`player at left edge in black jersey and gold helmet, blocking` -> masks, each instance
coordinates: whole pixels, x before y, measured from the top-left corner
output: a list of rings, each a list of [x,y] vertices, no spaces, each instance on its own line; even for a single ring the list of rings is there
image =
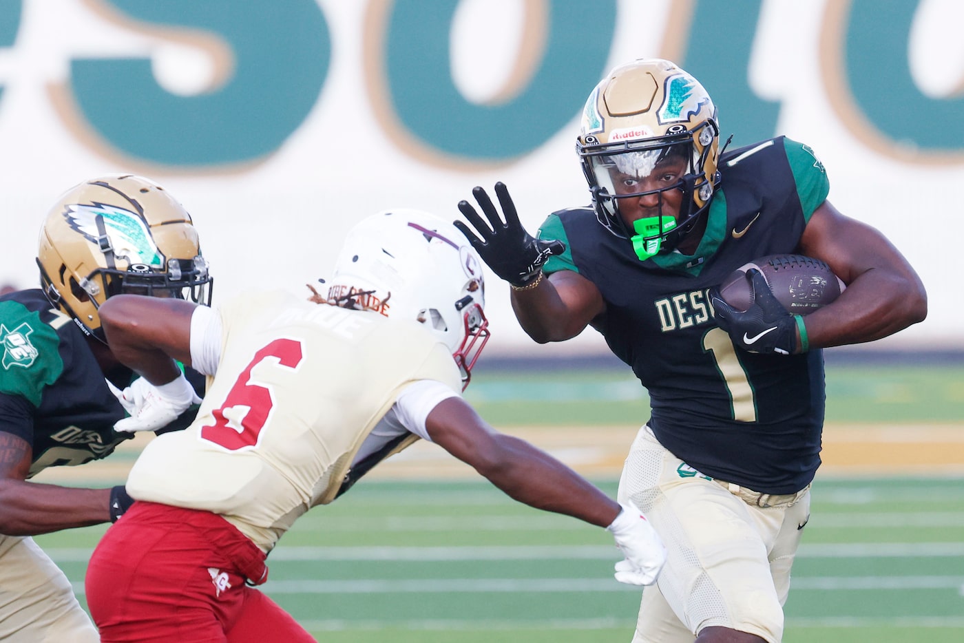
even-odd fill
[[[133,292],[210,303],[211,278],[191,216],[146,178],[109,175],[69,189],[40,230],[40,288],[0,296],[0,640],[99,641],[67,576],[30,536],[116,521],[122,486],[27,482],[47,467],[103,458],[149,394],[105,343],[97,308]],[[197,373],[193,373],[197,375]],[[181,394],[203,390],[178,378]],[[197,406],[171,420],[184,428]],[[161,427],[158,426],[158,429]]]

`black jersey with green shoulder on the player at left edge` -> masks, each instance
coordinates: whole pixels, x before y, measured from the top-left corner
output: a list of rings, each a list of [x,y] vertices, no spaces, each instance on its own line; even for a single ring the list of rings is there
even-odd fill
[[[133,437],[114,430],[126,414],[85,335],[70,317],[50,307],[42,291],[0,297],[0,342],[0,431],[33,447],[28,477],[47,467],[103,458]],[[121,368],[112,376],[123,388],[132,373]],[[190,379],[202,393],[200,376]],[[167,429],[186,427],[196,414],[197,407],[189,409]]]

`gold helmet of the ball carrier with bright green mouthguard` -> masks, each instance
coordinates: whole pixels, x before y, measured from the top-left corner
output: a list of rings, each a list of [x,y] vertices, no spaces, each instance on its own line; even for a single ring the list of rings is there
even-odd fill
[[[612,233],[628,237],[641,260],[676,248],[706,211],[719,182],[718,147],[710,94],[693,76],[661,59],[640,59],[610,71],[586,101],[576,143],[596,216]],[[672,185],[633,189],[674,158],[685,159],[686,169]],[[659,194],[661,201],[669,190],[683,192],[676,217],[660,209],[629,229],[620,216],[620,200]]]

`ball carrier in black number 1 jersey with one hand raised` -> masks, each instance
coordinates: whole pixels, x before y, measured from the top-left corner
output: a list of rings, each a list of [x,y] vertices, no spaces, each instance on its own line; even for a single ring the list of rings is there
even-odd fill
[[[876,229],[829,201],[810,147],[778,137],[726,151],[710,95],[664,60],[616,67],[590,94],[577,151],[592,205],[531,237],[504,185],[459,209],[540,343],[587,326],[648,389],[651,415],[620,497],[656,526],[667,563],[643,594],[636,642],[775,642],[809,518],[824,413],[821,348],[897,333],[926,315],[924,285]],[[473,233],[474,232],[474,233]],[[784,253],[846,283],[805,318],[761,294],[740,312],[713,287]],[[751,273],[759,271],[750,271]]]

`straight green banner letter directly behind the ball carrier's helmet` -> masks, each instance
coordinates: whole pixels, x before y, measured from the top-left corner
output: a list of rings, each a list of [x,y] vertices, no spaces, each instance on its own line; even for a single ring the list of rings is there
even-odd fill
[[[776,135],[780,103],[764,100],[747,79],[762,0],[695,0],[683,57],[716,105],[720,137],[748,145]]]

